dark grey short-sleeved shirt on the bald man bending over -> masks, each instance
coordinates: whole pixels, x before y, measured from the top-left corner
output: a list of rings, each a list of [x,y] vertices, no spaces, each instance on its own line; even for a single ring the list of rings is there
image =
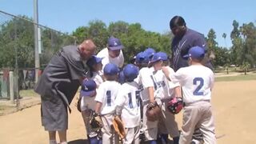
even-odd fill
[[[60,96],[69,105],[86,77],[87,66],[82,61],[78,46],[64,46],[51,58],[42,72],[34,91],[41,96]]]

